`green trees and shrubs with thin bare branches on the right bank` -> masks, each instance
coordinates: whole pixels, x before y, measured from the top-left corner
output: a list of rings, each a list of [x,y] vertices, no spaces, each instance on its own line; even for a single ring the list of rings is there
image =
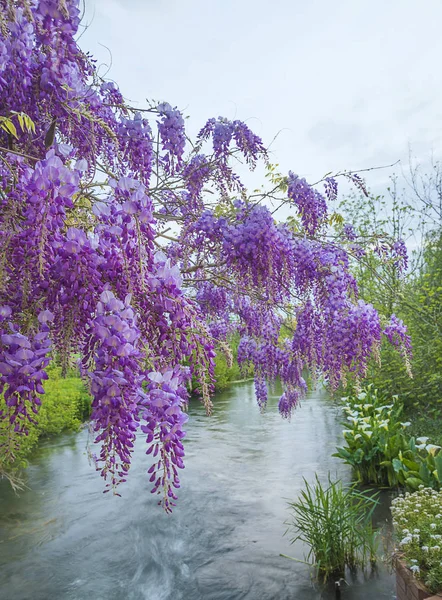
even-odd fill
[[[405,419],[412,421],[410,433],[428,435],[438,444],[442,444],[441,174],[436,163],[433,173],[423,175],[420,182],[412,171],[406,193],[398,192],[398,180],[393,179],[389,197],[350,197],[341,206],[360,239],[376,229],[409,239],[416,248],[405,278],[394,260],[381,260],[376,247],[354,261],[353,272],[366,301],[407,323],[413,347],[412,378],[398,353],[385,343],[380,360],[370,362],[367,378],[382,393],[401,398]]]

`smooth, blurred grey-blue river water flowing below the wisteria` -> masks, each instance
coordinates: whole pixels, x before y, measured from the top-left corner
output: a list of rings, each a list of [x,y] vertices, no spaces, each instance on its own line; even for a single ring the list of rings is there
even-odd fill
[[[139,440],[122,498],[103,494],[89,466],[87,432],[46,442],[15,496],[0,482],[1,600],[316,600],[334,599],[284,536],[286,503],[303,477],[349,480],[332,458],[341,443],[340,414],[312,392],[289,423],[276,394],[261,415],[253,384],[217,394],[214,414],[192,401],[186,468],[178,506],[166,515],[149,493],[150,463]],[[386,507],[376,519],[384,524]],[[393,599],[382,563],[347,577],[342,598]]]

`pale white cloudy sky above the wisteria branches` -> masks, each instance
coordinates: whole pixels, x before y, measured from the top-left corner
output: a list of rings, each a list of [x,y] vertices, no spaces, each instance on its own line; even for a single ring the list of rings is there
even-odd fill
[[[81,38],[134,104],[167,100],[196,132],[245,120],[282,170],[424,161],[442,151],[440,0],[85,0]],[[105,68],[102,68],[102,72]],[[398,170],[398,168],[396,168]],[[386,174],[368,182],[381,185]]]

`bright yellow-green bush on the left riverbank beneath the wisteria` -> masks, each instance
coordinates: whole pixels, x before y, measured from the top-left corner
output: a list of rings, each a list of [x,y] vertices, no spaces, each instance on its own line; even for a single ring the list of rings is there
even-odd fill
[[[20,436],[20,447],[18,448],[14,435],[7,436],[0,429],[0,445],[7,449],[2,453],[0,476],[8,474],[9,478],[13,477],[14,473],[26,467],[27,459],[42,438],[66,430],[76,431],[89,417],[91,399],[78,374],[71,371],[67,377],[62,377],[61,369],[55,367],[48,370],[48,376],[38,420],[29,424],[26,436]],[[1,396],[0,410],[8,410]]]

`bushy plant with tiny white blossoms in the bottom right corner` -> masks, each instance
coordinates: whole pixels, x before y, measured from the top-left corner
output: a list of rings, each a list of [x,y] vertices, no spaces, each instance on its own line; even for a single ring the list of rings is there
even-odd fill
[[[442,491],[406,492],[391,512],[398,558],[431,593],[442,591]]]

